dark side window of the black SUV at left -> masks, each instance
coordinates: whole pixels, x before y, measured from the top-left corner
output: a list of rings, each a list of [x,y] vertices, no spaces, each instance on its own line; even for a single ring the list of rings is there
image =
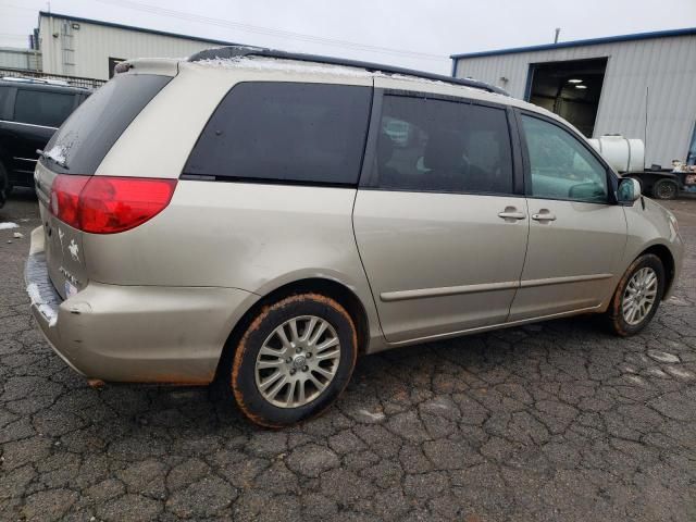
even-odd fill
[[[14,121],[60,127],[75,108],[75,95],[17,89]]]

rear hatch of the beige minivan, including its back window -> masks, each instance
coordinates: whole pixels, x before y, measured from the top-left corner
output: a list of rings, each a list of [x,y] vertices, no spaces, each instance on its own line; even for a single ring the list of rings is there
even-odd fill
[[[89,274],[83,249],[87,233],[80,231],[71,206],[119,137],[171,79],[160,74],[117,74],[65,121],[41,154],[34,176],[46,258],[63,299],[83,289]],[[64,190],[57,190],[61,187]]]

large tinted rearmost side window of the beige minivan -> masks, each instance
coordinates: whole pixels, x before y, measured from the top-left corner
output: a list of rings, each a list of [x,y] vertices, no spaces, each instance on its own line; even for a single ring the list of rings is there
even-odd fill
[[[356,185],[370,87],[250,82],[220,103],[184,174]]]

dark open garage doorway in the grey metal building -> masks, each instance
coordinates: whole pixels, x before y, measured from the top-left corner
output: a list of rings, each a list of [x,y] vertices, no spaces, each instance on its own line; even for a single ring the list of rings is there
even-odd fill
[[[533,63],[526,99],[564,117],[591,138],[606,69],[606,58]]]

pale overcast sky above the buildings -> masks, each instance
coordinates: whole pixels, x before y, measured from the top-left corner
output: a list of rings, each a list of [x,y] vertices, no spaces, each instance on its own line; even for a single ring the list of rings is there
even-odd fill
[[[696,0],[0,0],[0,46],[39,10],[449,73],[449,54],[696,26]],[[136,58],[136,57],[129,57]]]

